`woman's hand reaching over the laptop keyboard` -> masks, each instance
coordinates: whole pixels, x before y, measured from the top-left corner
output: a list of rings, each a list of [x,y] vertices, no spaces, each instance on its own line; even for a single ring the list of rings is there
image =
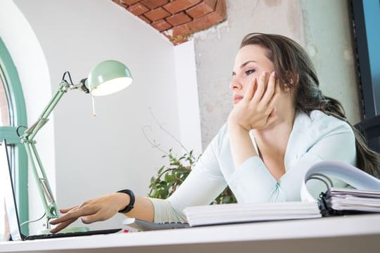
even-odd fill
[[[50,221],[51,225],[58,225],[50,232],[57,233],[80,217],[83,223],[105,221],[113,217],[128,204],[129,196],[127,194],[111,193],[93,200],[87,200],[77,207],[60,209],[60,212],[64,215]]]

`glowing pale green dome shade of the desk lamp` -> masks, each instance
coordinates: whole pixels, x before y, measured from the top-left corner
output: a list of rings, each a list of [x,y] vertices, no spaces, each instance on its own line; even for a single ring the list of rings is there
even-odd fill
[[[132,84],[132,74],[117,60],[105,60],[96,65],[86,81],[93,96],[106,96],[127,88],[129,84]]]

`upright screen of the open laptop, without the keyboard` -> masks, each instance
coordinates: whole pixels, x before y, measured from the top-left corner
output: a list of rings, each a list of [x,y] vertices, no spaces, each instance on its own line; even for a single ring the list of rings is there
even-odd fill
[[[0,147],[0,182],[2,186],[4,186],[6,215],[8,217],[9,231],[11,232],[12,240],[23,240],[20,233],[20,223],[18,221],[18,212],[11,179],[11,166],[9,164],[5,139]]]

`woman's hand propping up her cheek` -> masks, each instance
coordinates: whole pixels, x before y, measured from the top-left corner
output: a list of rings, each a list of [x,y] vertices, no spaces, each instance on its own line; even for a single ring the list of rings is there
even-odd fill
[[[267,78],[262,72],[258,79],[248,84],[246,93],[230,112],[229,126],[239,126],[246,131],[264,129],[277,119],[276,101],[281,88],[274,72]]]

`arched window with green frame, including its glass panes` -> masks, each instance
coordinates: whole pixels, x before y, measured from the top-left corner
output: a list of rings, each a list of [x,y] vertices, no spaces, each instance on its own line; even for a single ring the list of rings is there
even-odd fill
[[[27,126],[25,101],[21,89],[18,72],[13,60],[0,37],[0,140],[4,138],[10,151],[13,184],[15,186],[16,201],[20,222],[28,220],[27,197],[27,155],[20,143],[16,129],[18,126]],[[24,130],[24,129],[23,129]],[[20,130],[21,131],[21,130]],[[1,190],[0,192],[4,192]],[[4,233],[4,201],[0,205],[0,234]],[[23,226],[23,233],[28,234],[27,226]]]

